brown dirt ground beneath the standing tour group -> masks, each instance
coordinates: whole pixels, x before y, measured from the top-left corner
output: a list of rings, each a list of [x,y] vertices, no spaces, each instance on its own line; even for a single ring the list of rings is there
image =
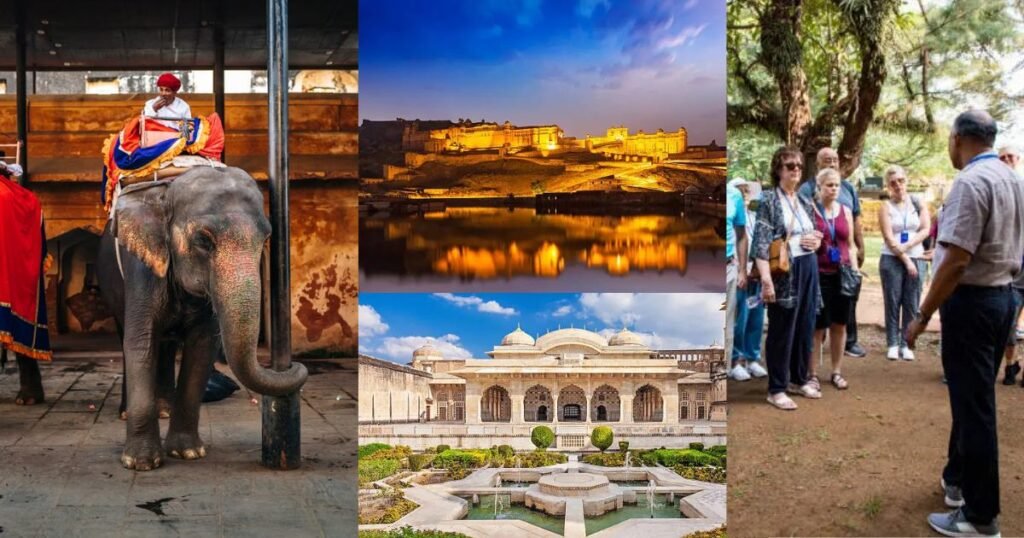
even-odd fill
[[[916,361],[891,362],[883,331],[862,327],[850,388],[825,383],[794,412],[765,402],[765,379],[729,381],[730,536],[936,536],[925,519],[946,510],[950,416],[938,334],[923,340]],[[1024,536],[1024,387],[997,382],[996,399],[1001,532]]]

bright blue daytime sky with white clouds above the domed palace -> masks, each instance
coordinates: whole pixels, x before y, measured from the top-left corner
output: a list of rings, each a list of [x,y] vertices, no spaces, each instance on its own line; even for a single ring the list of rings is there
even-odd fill
[[[486,359],[516,325],[537,337],[559,327],[606,336],[623,326],[655,349],[722,344],[720,293],[362,293],[359,353],[399,364],[430,343],[451,358]]]

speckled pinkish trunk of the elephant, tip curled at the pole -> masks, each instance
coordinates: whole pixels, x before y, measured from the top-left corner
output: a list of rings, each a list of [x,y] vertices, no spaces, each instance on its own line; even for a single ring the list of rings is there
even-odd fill
[[[298,390],[306,382],[305,366],[292,363],[291,368],[279,372],[260,366],[256,360],[256,342],[259,338],[260,281],[258,258],[246,263],[250,256],[228,257],[225,265],[217,267],[211,279],[211,299],[220,322],[224,355],[239,381],[254,392],[266,396],[285,396]],[[242,258],[242,259],[240,259]],[[252,267],[241,267],[251,264]],[[219,263],[217,264],[219,265]]]

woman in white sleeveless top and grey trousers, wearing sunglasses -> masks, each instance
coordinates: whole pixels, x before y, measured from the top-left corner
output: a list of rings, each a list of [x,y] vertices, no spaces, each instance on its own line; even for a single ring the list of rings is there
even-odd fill
[[[906,172],[901,166],[886,170],[889,200],[879,207],[882,230],[882,298],[886,312],[886,358],[890,361],[913,361],[906,345],[906,328],[918,315],[921,302],[921,277],[925,274],[925,248],[932,221],[928,206],[906,192]]]

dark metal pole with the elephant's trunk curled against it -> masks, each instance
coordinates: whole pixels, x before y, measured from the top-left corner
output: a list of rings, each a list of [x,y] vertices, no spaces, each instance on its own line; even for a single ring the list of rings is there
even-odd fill
[[[267,172],[270,183],[270,361],[292,364],[291,272],[288,231],[288,0],[267,0]],[[263,397],[263,465],[298,468],[302,461],[299,395]]]

